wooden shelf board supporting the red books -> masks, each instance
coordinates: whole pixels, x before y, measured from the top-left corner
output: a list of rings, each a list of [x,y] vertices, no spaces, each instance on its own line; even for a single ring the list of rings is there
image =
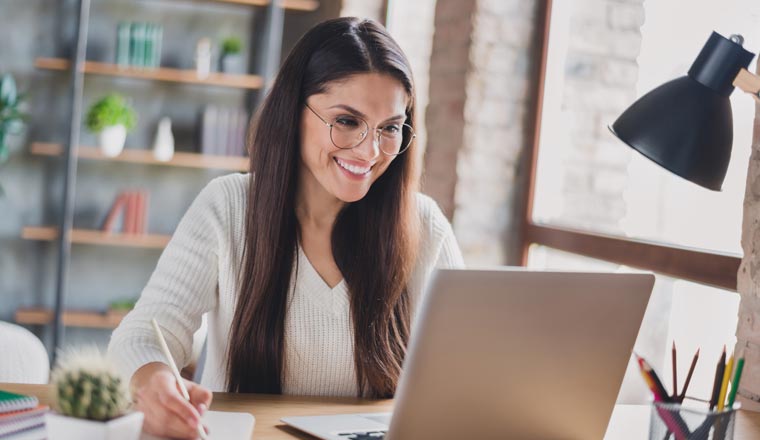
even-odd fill
[[[58,238],[58,228],[52,226],[26,226],[21,231],[26,240],[53,241]],[[100,246],[124,246],[147,249],[163,249],[169,243],[169,235],[123,234],[90,229],[72,229],[71,243]]]

